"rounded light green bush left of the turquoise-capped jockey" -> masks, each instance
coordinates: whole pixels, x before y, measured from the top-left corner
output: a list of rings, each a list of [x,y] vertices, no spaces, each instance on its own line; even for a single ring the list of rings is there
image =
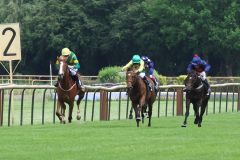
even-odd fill
[[[104,67],[98,73],[98,79],[101,83],[121,83],[125,82],[125,74],[121,73],[121,67]]]

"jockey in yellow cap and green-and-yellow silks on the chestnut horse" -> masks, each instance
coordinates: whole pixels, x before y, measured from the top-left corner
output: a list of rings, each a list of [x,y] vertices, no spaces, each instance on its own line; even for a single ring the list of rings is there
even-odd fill
[[[70,51],[68,48],[62,49],[62,56],[67,57],[67,64],[70,71],[70,75],[72,76],[73,80],[76,81],[78,88],[83,89],[84,85],[78,76],[78,70],[80,69],[80,64],[77,59],[77,56],[75,55],[74,52]],[[56,65],[59,65],[58,61],[56,62]],[[55,86],[57,87],[57,85],[58,84],[56,84]]]

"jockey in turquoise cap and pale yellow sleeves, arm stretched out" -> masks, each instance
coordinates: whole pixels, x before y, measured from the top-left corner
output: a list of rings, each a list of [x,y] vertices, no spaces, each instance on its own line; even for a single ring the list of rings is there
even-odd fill
[[[139,76],[144,80],[150,90],[152,90],[145,74],[144,61],[140,58],[139,55],[133,55],[132,60],[122,68],[122,71],[126,71],[128,68],[134,65],[137,65],[139,67],[135,72],[139,73]]]

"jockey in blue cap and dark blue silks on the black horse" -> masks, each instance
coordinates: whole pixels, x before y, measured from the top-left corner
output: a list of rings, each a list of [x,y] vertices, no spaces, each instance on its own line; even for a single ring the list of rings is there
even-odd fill
[[[202,60],[197,54],[194,54],[191,63],[187,67],[188,72],[191,72],[192,70],[194,70],[199,74],[203,83],[208,88],[207,95],[209,95],[211,92],[210,85],[207,81],[207,75],[206,75],[206,73],[210,70],[210,68],[211,68],[211,66],[206,61]]]

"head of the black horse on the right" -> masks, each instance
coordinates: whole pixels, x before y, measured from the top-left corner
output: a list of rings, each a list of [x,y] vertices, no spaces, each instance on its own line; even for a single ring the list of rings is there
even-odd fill
[[[201,79],[195,71],[189,72],[187,78],[184,80],[184,85],[186,86],[187,91],[191,91],[197,88],[200,84]]]

